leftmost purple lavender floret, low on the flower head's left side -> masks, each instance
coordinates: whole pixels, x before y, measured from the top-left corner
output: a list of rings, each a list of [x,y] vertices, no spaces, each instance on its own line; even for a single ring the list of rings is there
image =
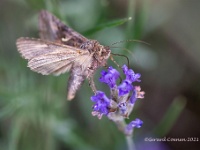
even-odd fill
[[[96,95],[91,97],[91,100],[95,102],[93,105],[93,111],[100,114],[107,115],[109,112],[110,99],[104,92],[97,91]]]

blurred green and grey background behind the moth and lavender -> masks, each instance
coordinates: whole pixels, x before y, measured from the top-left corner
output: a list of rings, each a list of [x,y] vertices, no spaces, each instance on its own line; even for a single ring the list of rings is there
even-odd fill
[[[39,37],[38,12],[46,9],[113,53],[125,54],[142,74],[145,99],[127,122],[138,150],[198,150],[198,142],[150,142],[145,138],[200,138],[200,1],[198,0],[1,0],[0,150],[124,150],[123,134],[106,117],[91,116],[88,81],[66,101],[68,74],[42,76],[27,68],[19,37]],[[132,17],[131,21],[127,21]],[[123,50],[129,49],[132,54]],[[123,58],[116,57],[122,65]],[[109,64],[113,63],[109,61]],[[101,68],[102,69],[102,68]],[[95,75],[98,84],[99,69]],[[200,139],[199,139],[200,140]]]

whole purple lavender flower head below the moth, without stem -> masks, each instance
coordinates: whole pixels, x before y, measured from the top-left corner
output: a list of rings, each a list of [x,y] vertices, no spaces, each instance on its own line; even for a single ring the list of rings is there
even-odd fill
[[[126,78],[117,85],[117,80],[120,78],[120,73],[113,67],[109,67],[107,71],[101,72],[100,82],[107,84],[110,88],[111,94],[108,98],[102,91],[97,91],[91,100],[95,103],[93,105],[92,115],[99,119],[106,115],[114,122],[119,122],[128,118],[134,104],[138,98],[144,98],[144,92],[141,91],[140,86],[134,86],[134,82],[140,82],[140,74],[134,73],[126,65],[122,67]],[[130,134],[133,128],[140,128],[142,125],[140,119],[135,119],[129,123],[125,128],[125,133]]]

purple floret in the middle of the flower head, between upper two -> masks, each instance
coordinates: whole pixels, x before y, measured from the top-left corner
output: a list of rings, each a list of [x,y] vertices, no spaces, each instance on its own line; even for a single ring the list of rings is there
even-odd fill
[[[129,93],[133,89],[133,86],[129,80],[124,80],[119,86],[119,96]]]

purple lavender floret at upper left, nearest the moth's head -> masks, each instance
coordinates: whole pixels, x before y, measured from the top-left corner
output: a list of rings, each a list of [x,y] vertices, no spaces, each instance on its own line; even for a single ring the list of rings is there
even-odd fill
[[[120,74],[116,69],[109,67],[107,72],[101,72],[100,81],[106,83],[110,88],[114,88],[119,75]]]

